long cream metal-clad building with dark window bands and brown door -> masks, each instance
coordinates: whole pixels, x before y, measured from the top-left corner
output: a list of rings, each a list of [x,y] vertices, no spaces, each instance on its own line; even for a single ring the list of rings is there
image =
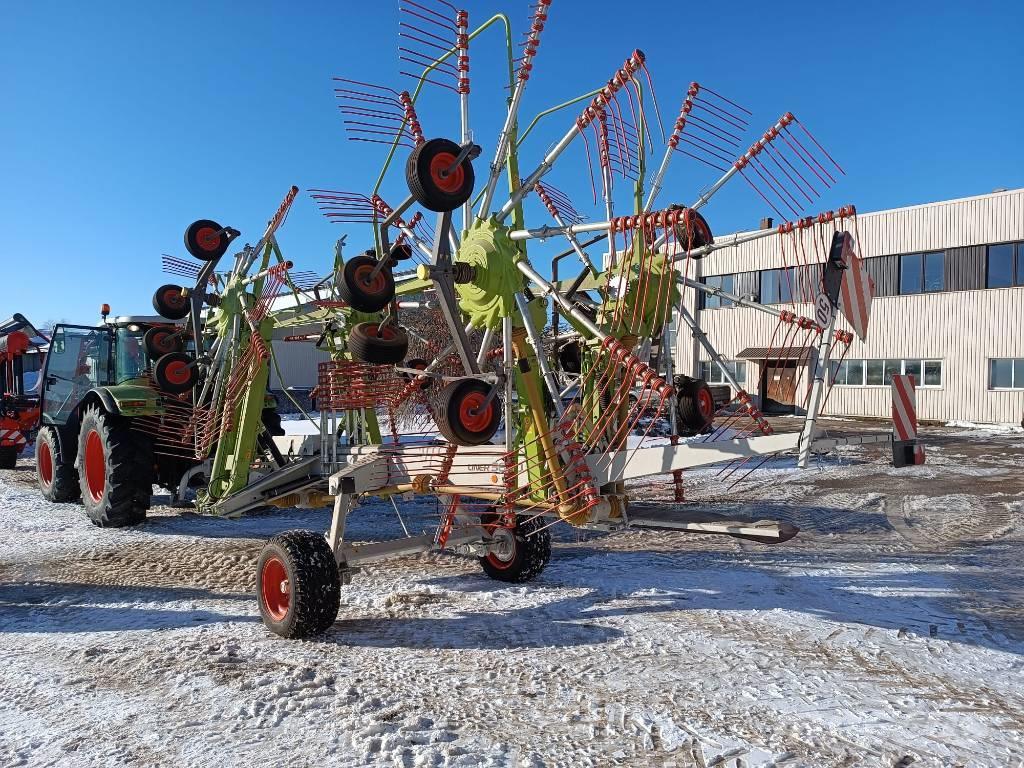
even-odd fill
[[[826,413],[888,417],[888,376],[901,372],[915,375],[922,419],[1020,423],[1024,189],[860,214],[847,228],[866,259],[876,298],[866,341],[855,339],[833,369],[836,386]],[[798,293],[791,287],[804,276],[799,269],[780,271],[794,265],[783,237],[716,251],[696,262],[697,276],[813,316],[813,306],[799,302],[799,295],[793,297],[796,306],[790,305],[790,294]],[[822,262],[826,247],[807,260]],[[780,352],[784,332],[776,333],[776,322],[756,309],[710,297],[697,311],[700,328],[764,410],[802,412],[814,364],[810,350]],[[842,317],[839,327],[849,329]],[[805,339],[791,337],[787,344],[799,350]],[[717,366],[685,330],[675,351],[677,370],[721,381]],[[778,386],[779,372],[791,377],[790,387]]]

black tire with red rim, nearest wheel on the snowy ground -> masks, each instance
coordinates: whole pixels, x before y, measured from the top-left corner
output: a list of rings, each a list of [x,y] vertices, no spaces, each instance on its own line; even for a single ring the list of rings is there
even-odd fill
[[[288,582],[288,604],[283,612],[280,603],[271,602],[274,585],[267,572],[273,560],[283,566]],[[341,577],[323,535],[286,530],[263,546],[256,561],[256,602],[263,624],[275,635],[298,639],[330,629],[341,605]]]

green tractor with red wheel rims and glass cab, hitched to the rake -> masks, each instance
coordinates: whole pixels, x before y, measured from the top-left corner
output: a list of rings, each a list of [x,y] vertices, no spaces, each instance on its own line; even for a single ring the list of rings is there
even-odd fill
[[[147,369],[180,331],[164,317],[105,315],[98,327],[53,329],[36,447],[47,500],[81,499],[96,525],[134,525],[145,519],[154,483],[174,489],[197,464],[155,456],[152,438],[132,428],[139,418],[163,414]]]

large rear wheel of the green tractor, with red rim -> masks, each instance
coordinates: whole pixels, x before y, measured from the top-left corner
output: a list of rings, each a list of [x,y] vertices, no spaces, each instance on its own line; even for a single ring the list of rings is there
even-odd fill
[[[93,525],[120,528],[145,520],[153,496],[153,445],[126,419],[97,406],[86,408],[75,464],[82,506]]]

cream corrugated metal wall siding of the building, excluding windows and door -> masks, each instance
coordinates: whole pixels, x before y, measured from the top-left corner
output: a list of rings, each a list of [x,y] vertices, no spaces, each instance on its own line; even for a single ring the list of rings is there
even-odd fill
[[[868,258],[868,271],[880,296],[872,303],[867,341],[855,340],[848,357],[941,359],[943,386],[918,390],[920,418],[1019,423],[1024,416],[1024,391],[990,391],[988,360],[1024,357],[1024,335],[1019,331],[1024,289],[968,287],[984,285],[985,244],[1024,240],[1024,190],[862,214],[854,231],[861,252],[868,257],[929,250],[955,253],[947,253],[947,291],[915,296],[893,295],[898,290],[897,258]],[[794,263],[792,248],[783,255],[773,237],[716,252],[702,260],[702,268],[707,274],[720,274],[785,263]],[[798,304],[795,311],[813,315],[809,304]],[[702,311],[698,321],[728,359],[744,347],[769,344],[777,325],[770,315],[742,308]],[[839,326],[849,329],[842,319]],[[777,338],[783,334],[780,331]],[[804,342],[798,338],[794,343]],[[683,366],[680,370],[696,373],[695,359],[691,358],[688,371]],[[798,382],[799,400],[807,386],[806,373]],[[757,375],[758,367],[751,364],[746,380],[752,393],[757,392]],[[835,415],[889,418],[891,408],[888,386],[836,387],[826,410]]]

